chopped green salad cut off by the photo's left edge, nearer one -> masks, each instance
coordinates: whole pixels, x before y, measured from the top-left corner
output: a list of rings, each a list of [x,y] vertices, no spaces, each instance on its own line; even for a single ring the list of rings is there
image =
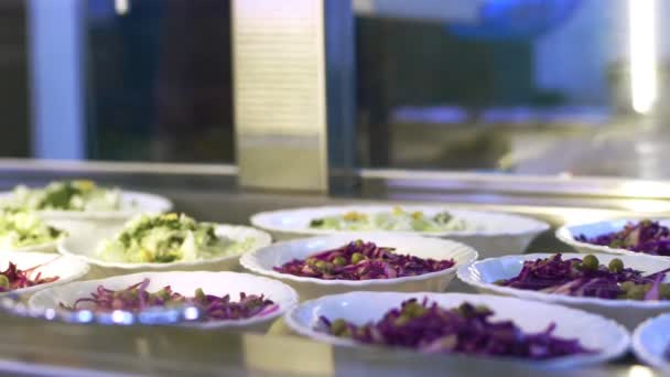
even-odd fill
[[[64,231],[25,212],[0,212],[0,247],[22,248],[58,239]]]

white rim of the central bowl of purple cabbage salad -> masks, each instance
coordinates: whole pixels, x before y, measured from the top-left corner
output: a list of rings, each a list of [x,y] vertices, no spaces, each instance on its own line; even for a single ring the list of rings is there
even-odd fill
[[[364,235],[364,234],[342,233],[338,235],[331,235],[331,236],[321,236],[321,237],[311,237],[311,238],[301,238],[301,239],[291,239],[291,240],[279,241],[279,243],[274,243],[272,245],[266,246],[263,248],[259,248],[253,251],[244,254],[240,257],[239,262],[244,268],[248,269],[249,271],[251,271],[253,273],[262,274],[266,277],[270,277],[272,279],[283,279],[283,280],[291,280],[291,281],[296,281],[296,282],[305,282],[305,283],[313,283],[313,284],[318,284],[318,286],[331,286],[331,287],[379,287],[379,286],[411,282],[411,281],[422,281],[422,280],[428,280],[428,279],[437,278],[437,277],[442,277],[442,276],[453,274],[456,272],[460,265],[469,265],[473,261],[477,260],[477,258],[479,257],[477,250],[475,250],[474,248],[472,248],[465,244],[454,241],[451,239],[432,239],[431,238],[431,241],[434,240],[434,241],[444,243],[445,249],[463,250],[467,255],[466,261],[463,263],[455,263],[454,266],[452,266],[445,270],[429,272],[429,273],[424,273],[424,274],[418,274],[418,276],[413,276],[413,277],[402,277],[402,278],[392,278],[392,279],[370,279],[370,280],[323,280],[323,279],[317,279],[317,278],[296,277],[296,276],[293,276],[290,273],[281,273],[281,272],[278,272],[274,270],[266,269],[262,266],[260,266],[260,263],[258,262],[257,255],[259,252],[264,251],[266,249],[280,249],[282,247],[285,247],[285,246],[292,245],[292,244],[303,244],[303,243],[310,243],[310,241],[316,241],[316,240],[325,240],[325,241],[339,240],[345,237],[348,239],[349,236],[352,237],[352,239],[355,239],[356,236],[361,236],[361,235]],[[417,235],[404,235],[404,234],[389,235],[389,234],[385,234],[385,233],[377,233],[377,234],[370,233],[368,235],[402,237],[402,238],[408,238],[408,239],[413,238],[413,239],[417,239],[417,241],[422,241],[422,240],[426,239],[426,237],[420,237]],[[352,239],[349,239],[349,241]]]

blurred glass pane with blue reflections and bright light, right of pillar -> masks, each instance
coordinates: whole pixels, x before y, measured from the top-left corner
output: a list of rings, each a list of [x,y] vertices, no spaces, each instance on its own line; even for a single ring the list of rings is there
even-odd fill
[[[367,3],[379,11],[357,18],[361,164],[670,174],[666,115],[649,111],[670,2],[478,0],[432,18],[426,2],[392,18]]]

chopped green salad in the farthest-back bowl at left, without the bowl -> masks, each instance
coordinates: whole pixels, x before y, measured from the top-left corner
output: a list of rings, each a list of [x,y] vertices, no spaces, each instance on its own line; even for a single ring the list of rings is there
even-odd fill
[[[42,188],[17,186],[2,206],[20,211],[117,211],[121,193],[91,181],[57,181]]]

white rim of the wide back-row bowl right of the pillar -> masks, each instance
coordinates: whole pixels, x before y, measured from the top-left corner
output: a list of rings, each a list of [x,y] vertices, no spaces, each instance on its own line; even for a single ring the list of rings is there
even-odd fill
[[[401,207],[407,211],[434,211],[435,206],[429,205],[417,205],[417,204],[388,204],[388,205],[341,205],[341,206],[316,206],[316,207],[300,207],[300,208],[290,208],[290,209],[278,209],[278,211],[264,211],[259,212],[250,217],[250,222],[253,226],[266,229],[274,233],[295,233],[301,235],[333,235],[333,234],[342,234],[348,233],[352,230],[332,230],[332,229],[312,229],[312,228],[283,228],[274,226],[270,219],[280,216],[294,215],[302,212],[323,212],[323,213],[341,213],[344,214],[346,212],[356,211],[356,212],[389,212],[392,211],[393,207]],[[445,231],[398,231],[398,230],[371,230],[369,233],[393,233],[393,234],[407,234],[407,235],[419,235],[419,236],[429,236],[429,237],[467,237],[467,236],[479,236],[479,237],[494,237],[494,236],[520,236],[527,234],[540,234],[549,229],[549,224],[541,222],[537,218],[530,216],[522,216],[517,214],[509,213],[497,213],[497,212],[484,212],[484,211],[472,211],[472,209],[460,209],[460,208],[450,208],[449,206],[440,207],[442,211],[447,211],[458,216],[462,215],[471,215],[471,216],[495,216],[499,218],[508,218],[515,220],[525,220],[528,222],[529,227],[522,229],[507,229],[502,230],[445,230]]]

